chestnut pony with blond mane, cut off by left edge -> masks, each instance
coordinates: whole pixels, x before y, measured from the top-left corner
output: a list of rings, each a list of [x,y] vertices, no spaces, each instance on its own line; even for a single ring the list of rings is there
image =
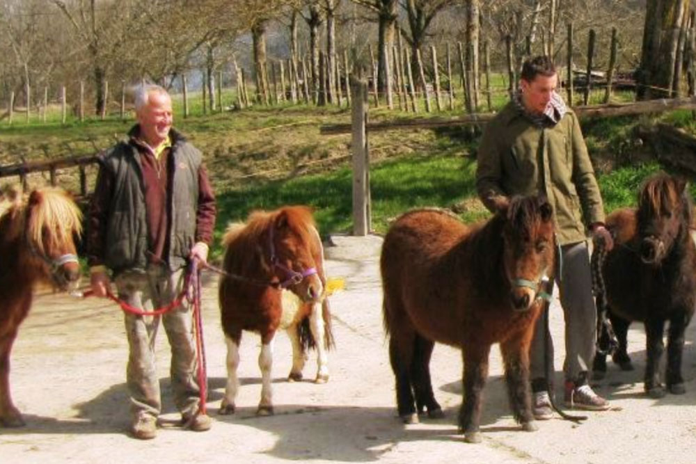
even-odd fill
[[[55,289],[77,286],[79,262],[74,239],[81,213],[58,189],[32,191],[0,206],[0,426],[24,421],[10,395],[10,351],[31,306],[33,287],[46,281]]]

